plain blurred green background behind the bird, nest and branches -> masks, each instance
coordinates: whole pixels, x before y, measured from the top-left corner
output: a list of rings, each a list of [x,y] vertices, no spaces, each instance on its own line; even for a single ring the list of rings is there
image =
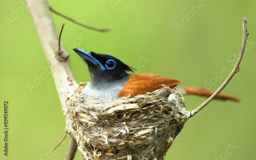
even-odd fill
[[[241,71],[225,93],[241,103],[212,101],[187,121],[165,159],[255,159],[255,1],[51,1],[59,12],[95,27],[99,33],[52,14],[57,30],[65,22],[62,42],[77,82],[90,75],[73,48],[111,54],[137,68],[183,81],[184,86],[217,89],[237,60],[242,41],[242,18],[249,37]],[[23,1],[0,2],[0,159],[63,159],[69,138],[48,62],[32,18]],[[186,19],[186,18],[188,19]],[[147,61],[141,61],[146,57]],[[227,67],[228,72],[223,72]],[[36,88],[35,77],[44,75]],[[9,101],[9,155],[4,156],[3,106]],[[186,96],[188,110],[205,98]],[[233,147],[230,147],[233,146]],[[75,159],[80,159],[78,151]]]

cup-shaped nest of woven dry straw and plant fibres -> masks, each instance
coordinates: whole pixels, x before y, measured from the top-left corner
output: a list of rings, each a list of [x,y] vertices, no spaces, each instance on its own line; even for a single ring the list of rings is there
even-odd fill
[[[69,109],[85,159],[163,159],[190,115],[169,87],[113,100],[76,93]]]

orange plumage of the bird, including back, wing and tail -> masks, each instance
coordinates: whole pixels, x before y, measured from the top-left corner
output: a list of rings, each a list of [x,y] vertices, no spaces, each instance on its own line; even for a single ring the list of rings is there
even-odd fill
[[[120,91],[118,97],[137,96],[146,94],[147,92],[153,92],[154,90],[162,88],[162,84],[169,86],[170,88],[176,87],[181,82],[176,79],[166,78],[156,74],[130,74],[130,79],[124,84],[123,89]],[[181,87],[188,95],[198,95],[204,97],[210,97],[215,91],[205,88],[196,87]],[[215,97],[221,100],[232,100],[239,102],[236,97],[220,93]]]

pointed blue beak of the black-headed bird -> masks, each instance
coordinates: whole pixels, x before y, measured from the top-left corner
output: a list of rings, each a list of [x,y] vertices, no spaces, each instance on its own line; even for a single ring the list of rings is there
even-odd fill
[[[105,71],[105,67],[95,59],[89,52],[81,50],[81,49],[73,49],[82,59],[86,59],[96,65],[100,70]]]

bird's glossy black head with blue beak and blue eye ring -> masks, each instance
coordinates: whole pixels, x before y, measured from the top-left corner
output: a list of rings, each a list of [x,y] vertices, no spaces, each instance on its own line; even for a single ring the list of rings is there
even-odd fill
[[[87,52],[81,49],[73,49],[84,62],[87,63],[92,82],[111,82],[129,77],[126,72],[132,71],[133,68],[124,64],[119,59],[94,52]]]

